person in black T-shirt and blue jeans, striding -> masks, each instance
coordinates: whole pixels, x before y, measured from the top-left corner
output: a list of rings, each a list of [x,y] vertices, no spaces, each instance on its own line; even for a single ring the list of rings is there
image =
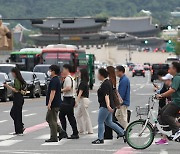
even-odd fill
[[[112,121],[113,115],[113,96],[112,84],[108,79],[107,70],[101,68],[98,71],[98,79],[102,82],[98,89],[98,102],[100,105],[98,114],[98,139],[93,141],[92,144],[104,143],[104,123],[118,133],[118,137],[124,136],[124,130]]]

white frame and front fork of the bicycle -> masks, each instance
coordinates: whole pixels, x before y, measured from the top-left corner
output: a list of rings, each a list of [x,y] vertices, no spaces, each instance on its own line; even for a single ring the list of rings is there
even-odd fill
[[[153,122],[155,123],[155,126],[158,128],[158,130],[164,134],[164,135],[167,135],[167,136],[171,136],[172,135],[172,131],[164,131],[163,128],[164,127],[169,127],[168,125],[160,125],[159,124],[159,121],[157,119],[157,115],[155,114],[155,111],[154,111],[154,104],[155,104],[155,101],[154,101],[154,96],[152,97],[152,102],[153,102],[153,105],[152,107],[150,108],[149,110],[149,113],[148,113],[148,116],[147,116],[147,119],[145,121],[145,125],[143,126],[141,132],[139,133],[139,136],[142,135],[142,133],[144,132],[144,130],[146,129],[146,126],[148,124],[148,122],[150,121],[150,118],[152,117],[153,118]],[[148,104],[150,106],[150,104]],[[149,122],[150,123],[150,122]]]

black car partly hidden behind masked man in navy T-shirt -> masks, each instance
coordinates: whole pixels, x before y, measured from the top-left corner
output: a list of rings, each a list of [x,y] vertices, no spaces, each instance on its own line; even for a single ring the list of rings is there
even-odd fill
[[[49,84],[46,74],[40,73],[40,72],[34,72],[34,74],[36,74],[37,78],[40,81],[41,94],[46,96],[47,88],[48,88],[48,84]]]

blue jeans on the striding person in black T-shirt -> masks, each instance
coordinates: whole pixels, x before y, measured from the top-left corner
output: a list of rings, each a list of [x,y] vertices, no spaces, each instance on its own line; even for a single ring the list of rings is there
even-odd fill
[[[119,135],[124,135],[124,130],[112,121],[112,113],[107,108],[100,107],[98,115],[98,139],[104,139],[104,123]]]

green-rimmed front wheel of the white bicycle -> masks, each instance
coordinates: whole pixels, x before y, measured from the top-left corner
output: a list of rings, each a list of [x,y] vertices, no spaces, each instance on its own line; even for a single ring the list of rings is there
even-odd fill
[[[145,120],[137,120],[129,124],[126,129],[126,141],[134,149],[146,149],[154,140],[154,130],[150,123],[147,124],[142,135],[139,135],[144,127]]]

